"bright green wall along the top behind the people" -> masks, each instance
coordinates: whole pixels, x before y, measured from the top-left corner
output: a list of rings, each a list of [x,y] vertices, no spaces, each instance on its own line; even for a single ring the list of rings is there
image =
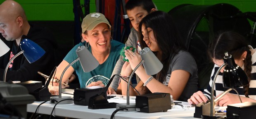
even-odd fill
[[[2,3],[4,0],[0,0]],[[16,0],[24,7],[29,21],[73,21],[73,0]],[[242,12],[256,11],[256,0],[153,0],[159,10],[168,12],[181,4],[214,5],[229,3]],[[83,3],[83,0],[81,0]],[[96,11],[90,0],[90,12]],[[114,11],[113,11],[114,12]]]

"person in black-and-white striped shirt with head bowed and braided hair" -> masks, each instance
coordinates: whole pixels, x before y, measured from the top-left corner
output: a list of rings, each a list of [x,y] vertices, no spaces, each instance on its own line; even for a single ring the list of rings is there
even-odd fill
[[[209,85],[204,92],[198,91],[194,93],[187,101],[191,104],[198,104],[201,102],[206,102],[211,98],[211,85],[213,82],[214,75],[218,68],[224,63],[223,57],[224,53],[228,51],[228,54],[232,55],[235,59],[235,63],[240,66],[249,78],[249,84],[244,87],[236,88],[239,93],[242,102],[256,102],[256,49],[248,46],[246,39],[236,32],[226,31],[213,40],[209,44],[209,55],[215,63],[214,68],[211,73],[211,80]],[[223,68],[224,69],[224,68]],[[218,97],[225,90],[222,81],[222,72],[217,76],[215,87],[214,87],[214,98]],[[220,98],[217,105],[227,106],[229,104],[240,103],[237,93],[232,90],[225,96]]]

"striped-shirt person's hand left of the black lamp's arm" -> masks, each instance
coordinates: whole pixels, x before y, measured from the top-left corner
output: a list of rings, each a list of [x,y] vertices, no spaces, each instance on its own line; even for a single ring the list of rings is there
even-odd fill
[[[206,101],[208,101],[208,98],[206,98],[201,91],[195,92],[189,99],[187,99],[187,102],[190,104],[206,103]]]

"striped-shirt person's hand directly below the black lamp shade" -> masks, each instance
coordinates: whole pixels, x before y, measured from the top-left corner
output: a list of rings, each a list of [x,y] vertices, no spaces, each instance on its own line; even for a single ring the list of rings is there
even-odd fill
[[[221,94],[219,94],[218,96],[220,96]],[[216,98],[218,97],[216,96]],[[225,94],[223,97],[221,97],[218,102],[216,102],[217,105],[220,105],[220,106],[227,106],[227,105],[230,105],[230,104],[235,104],[235,103],[241,103],[238,96],[235,95],[235,94],[230,94],[230,93],[227,93]]]

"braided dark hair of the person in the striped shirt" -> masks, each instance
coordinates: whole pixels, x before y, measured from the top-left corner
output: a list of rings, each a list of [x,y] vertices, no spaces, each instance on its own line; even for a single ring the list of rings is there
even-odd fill
[[[234,59],[244,58],[244,71],[247,74],[249,81],[251,80],[251,50],[246,39],[233,31],[220,33],[212,43],[209,44],[208,53],[211,58],[223,59],[225,52],[232,55]],[[246,57],[241,57],[244,51],[247,51]],[[249,84],[244,86],[244,95],[249,96]]]

